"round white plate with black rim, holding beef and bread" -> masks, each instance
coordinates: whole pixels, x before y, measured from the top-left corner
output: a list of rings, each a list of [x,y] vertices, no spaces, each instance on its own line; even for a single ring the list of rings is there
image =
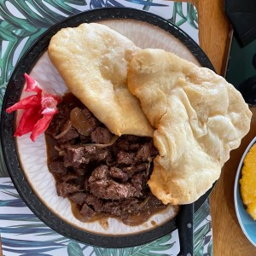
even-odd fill
[[[26,96],[24,73],[29,73],[49,92],[61,95],[66,93],[66,85],[49,61],[47,54],[49,40],[61,28],[79,26],[84,22],[99,22],[122,33],[141,48],[166,49],[198,66],[213,69],[207,55],[185,32],[160,16],[141,10],[94,9],[69,17],[52,26],[20,59],[9,80],[3,100],[1,118],[3,159],[16,189],[32,212],[53,230],[63,236],[94,246],[133,247],[154,241],[172,230],[182,229],[183,226],[191,228],[191,225],[187,224],[191,219],[193,220],[193,212],[189,212],[187,207],[182,207],[177,214],[183,216],[181,220],[172,218],[172,207],[169,207],[166,212],[156,214],[147,223],[138,226],[128,226],[110,218],[106,230],[101,224],[79,221],[73,217],[70,202],[56,194],[55,180],[46,164],[44,135],[38,137],[36,143],[32,143],[29,136],[13,137],[19,113],[7,114],[5,109],[18,102],[20,97]],[[207,199],[211,190],[195,202],[195,211]],[[193,232],[190,234],[193,235]],[[193,236],[190,240],[193,240]]]

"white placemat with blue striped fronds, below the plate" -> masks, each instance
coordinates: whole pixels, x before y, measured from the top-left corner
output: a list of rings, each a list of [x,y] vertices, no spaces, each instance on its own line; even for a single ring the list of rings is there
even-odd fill
[[[209,209],[206,201],[195,212],[195,255],[213,255]],[[6,256],[167,256],[179,252],[177,230],[148,244],[120,249],[91,247],[61,236],[26,207],[9,177],[0,178],[0,233],[3,255]]]

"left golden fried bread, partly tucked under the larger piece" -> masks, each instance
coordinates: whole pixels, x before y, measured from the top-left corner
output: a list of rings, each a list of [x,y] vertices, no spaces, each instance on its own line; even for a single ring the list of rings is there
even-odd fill
[[[90,23],[61,29],[48,53],[67,88],[110,131],[152,137],[153,128],[127,88],[127,68],[138,49],[108,26]]]

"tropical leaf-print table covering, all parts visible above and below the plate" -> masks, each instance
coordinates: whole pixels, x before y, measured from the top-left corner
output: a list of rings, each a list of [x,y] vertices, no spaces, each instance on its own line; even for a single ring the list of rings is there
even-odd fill
[[[49,26],[81,11],[102,7],[131,7],[160,15],[180,26],[198,43],[197,11],[191,3],[154,0],[1,0],[0,108],[9,78],[28,47]],[[1,155],[0,155],[1,158]],[[177,255],[177,230],[138,247],[91,247],[61,236],[42,223],[20,199],[0,161],[0,234],[3,255]],[[195,212],[195,255],[212,255],[212,224],[206,201]],[[0,250],[1,255],[1,250]]]

